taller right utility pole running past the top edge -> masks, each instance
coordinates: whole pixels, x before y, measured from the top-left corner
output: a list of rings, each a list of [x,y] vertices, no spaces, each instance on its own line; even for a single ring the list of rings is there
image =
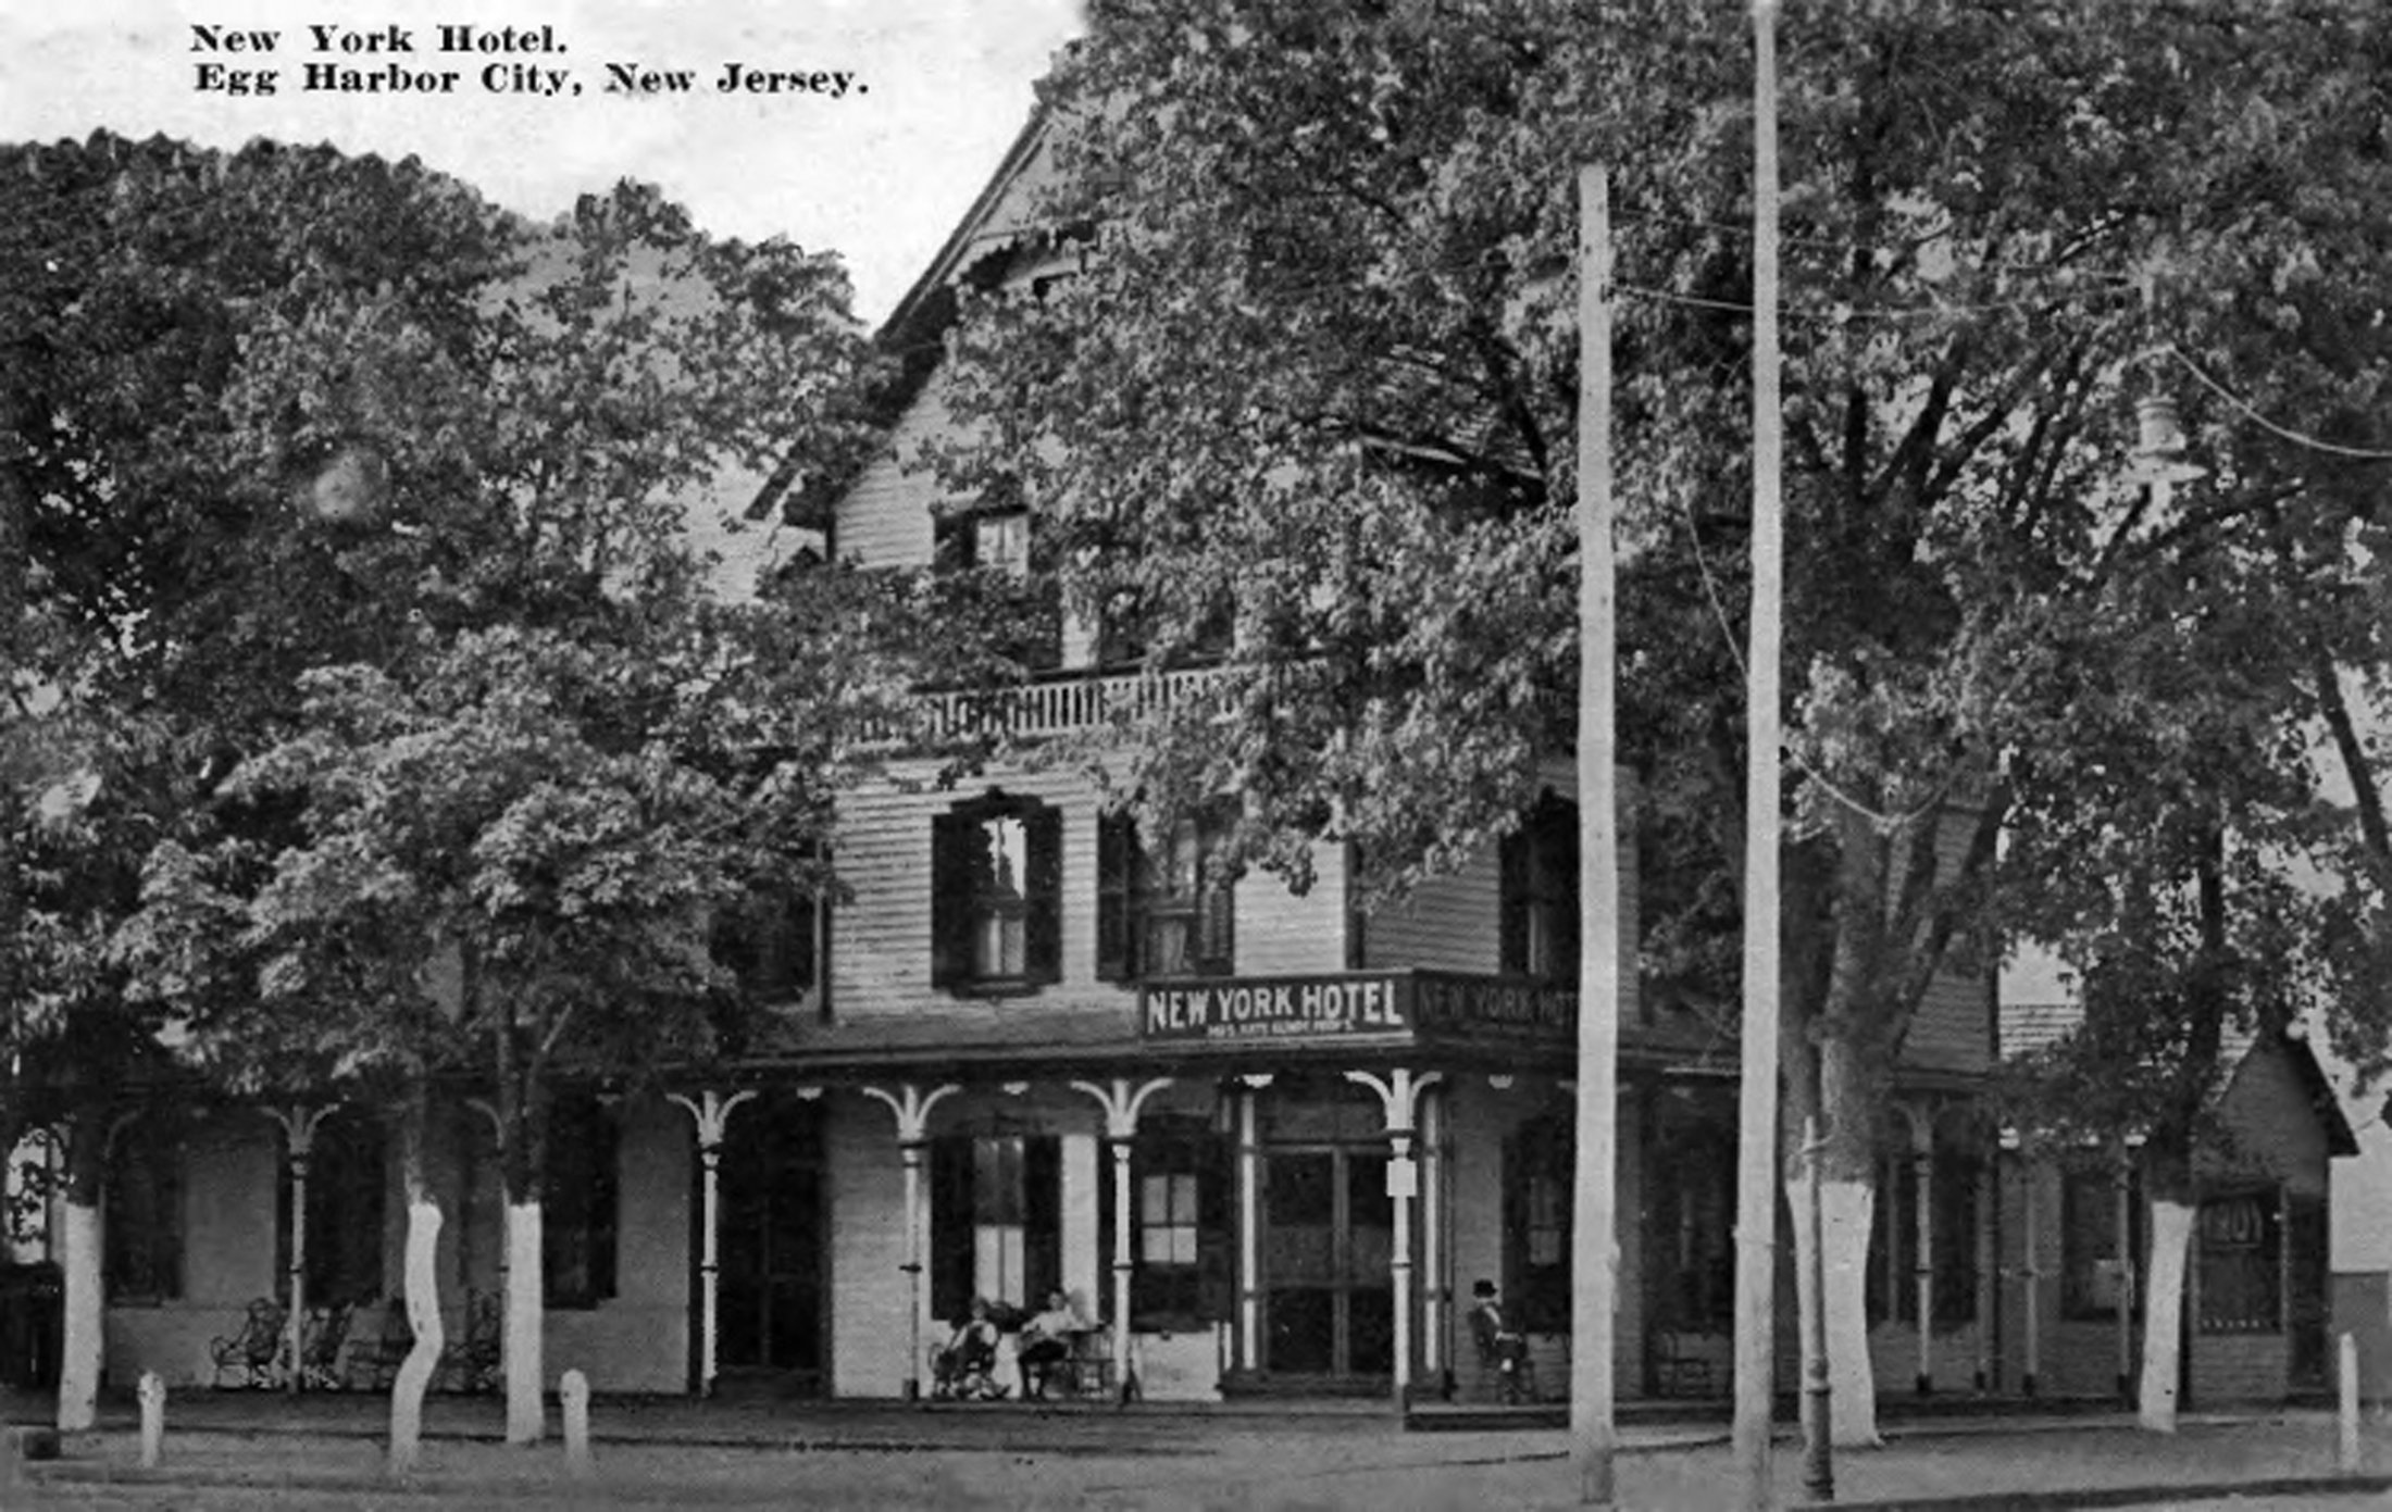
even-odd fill
[[[1753,0],[1753,610],[1744,658],[1744,1041],[1737,1096],[1737,1474],[1770,1505],[1777,1364],[1777,656],[1784,502],[1777,400],[1777,0]]]

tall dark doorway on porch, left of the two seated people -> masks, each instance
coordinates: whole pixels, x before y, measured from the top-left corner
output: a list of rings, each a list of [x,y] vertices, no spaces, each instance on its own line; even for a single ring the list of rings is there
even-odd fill
[[[816,1103],[742,1108],[722,1141],[720,1335],[725,1376],[823,1388],[828,1244]]]

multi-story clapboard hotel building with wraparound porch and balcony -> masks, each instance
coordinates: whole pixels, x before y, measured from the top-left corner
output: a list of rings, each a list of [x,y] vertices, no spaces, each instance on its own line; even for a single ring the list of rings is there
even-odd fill
[[[947,543],[978,565],[1021,560],[1026,514],[945,500],[899,457],[947,423],[935,349],[954,282],[1067,268],[1026,213],[1043,172],[1033,122],[892,318],[892,347],[919,356],[887,452],[806,519],[832,555],[923,565]],[[1096,636],[1069,624],[1057,663],[1005,706],[1017,737],[1064,734],[1206,677],[1107,670]],[[1036,1309],[1062,1290],[1127,1325],[1107,1352],[1148,1400],[1421,1395],[1454,1378],[1471,1388],[1464,1313],[1488,1278],[1557,1392],[1579,1012],[1567,754],[1538,773],[1543,799],[1512,840],[1378,912],[1359,907],[1342,847],[1318,849],[1304,895],[1265,876],[1229,883],[1206,866],[1206,816],[1139,833],[1076,775],[1005,768],[942,787],[938,766],[899,756],[887,782],[849,799],[852,900],[758,962],[787,990],[737,1077],[560,1103],[550,1366],[584,1368],[598,1390],[720,1380],[892,1397],[926,1378],[926,1347],[969,1299]],[[1634,919],[1634,847],[1619,866],[1617,902]],[[1725,1395],[1734,1048],[1636,995],[1634,943],[1622,981],[1612,1368],[1627,1397]],[[2263,1120],[2294,1108],[2280,1084],[2301,1057],[2253,1055],[2234,1096]],[[2055,1175],[2028,1184],[2002,1156],[1981,1112],[1995,1057],[1990,964],[1947,974],[1897,1072],[1899,1153],[1871,1258],[1878,1378],[2021,1392],[2033,1376],[2055,1395],[2105,1392],[2110,1340],[2074,1321],[2100,1294],[2069,1280],[2100,1256],[2062,1237],[2076,1232],[2062,1223],[2074,1189]],[[2294,1196],[2323,1196],[2335,1144],[2301,1139],[2299,1167],[2253,1189],[2272,1196],[2217,1220],[2220,1244],[2256,1220],[2275,1244],[2260,1256],[2294,1254],[2284,1234],[2306,1232],[2313,1211]],[[105,1215],[110,1378],[210,1380],[210,1342],[285,1285],[294,1237],[311,1299],[388,1297],[404,1220],[390,1156],[359,1110],[129,1122]],[[450,1213],[445,1301],[471,1335],[469,1297],[500,1285],[493,1122],[452,1103],[431,1167]],[[301,1170],[304,1206],[289,1179]],[[2028,1234],[2036,1266],[2021,1263]],[[2239,1258],[2237,1285],[2263,1263]],[[1792,1359],[1792,1306],[1780,1313]],[[335,1376],[356,1378],[378,1316],[352,1325]],[[2253,1333],[2256,1318],[2234,1313]],[[2217,1368],[2215,1390],[2253,1395],[2282,1395],[2292,1371]]]

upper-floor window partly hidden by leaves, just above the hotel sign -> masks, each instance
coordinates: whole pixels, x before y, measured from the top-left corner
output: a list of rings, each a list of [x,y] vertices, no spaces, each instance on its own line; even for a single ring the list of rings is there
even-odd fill
[[[1096,974],[1227,976],[1234,969],[1234,895],[1222,825],[1179,821],[1141,845],[1127,813],[1098,821]]]

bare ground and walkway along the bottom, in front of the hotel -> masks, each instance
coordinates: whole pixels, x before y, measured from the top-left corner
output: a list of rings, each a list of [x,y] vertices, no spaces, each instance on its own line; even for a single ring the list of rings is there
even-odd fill
[[[550,1416],[555,1423],[555,1416]],[[1375,1409],[1141,1404],[1115,1409],[725,1407],[598,1402],[600,1479],[565,1481],[562,1450],[498,1440],[490,1400],[435,1400],[423,1476],[380,1479],[380,1402],[187,1392],[167,1459],[136,1469],[129,1404],[67,1459],[26,1467],[45,1500],[108,1507],[605,1505],[675,1507],[1567,1507],[1569,1438],[1555,1428],[1404,1433]],[[1622,1507],[1734,1502],[1713,1426],[1627,1426]],[[1887,1447],[1837,1457],[1839,1507],[2124,1507],[2225,1495],[2270,1502],[2392,1488],[2392,1428],[2370,1423],[2366,1474],[2335,1474],[2330,1414],[2193,1416],[2167,1440],[2122,1416],[1894,1423]],[[1780,1440],[1782,1507],[1804,1505],[1801,1455]],[[91,1500],[105,1493],[105,1500]],[[139,1500],[155,1493],[160,1500]],[[170,1495],[167,1495],[170,1493]],[[220,1500],[208,1500],[210,1495]],[[77,1500],[84,1498],[84,1500]],[[14,1502],[10,1502],[14,1505]],[[2294,1502],[2296,1505],[2296,1502]]]

